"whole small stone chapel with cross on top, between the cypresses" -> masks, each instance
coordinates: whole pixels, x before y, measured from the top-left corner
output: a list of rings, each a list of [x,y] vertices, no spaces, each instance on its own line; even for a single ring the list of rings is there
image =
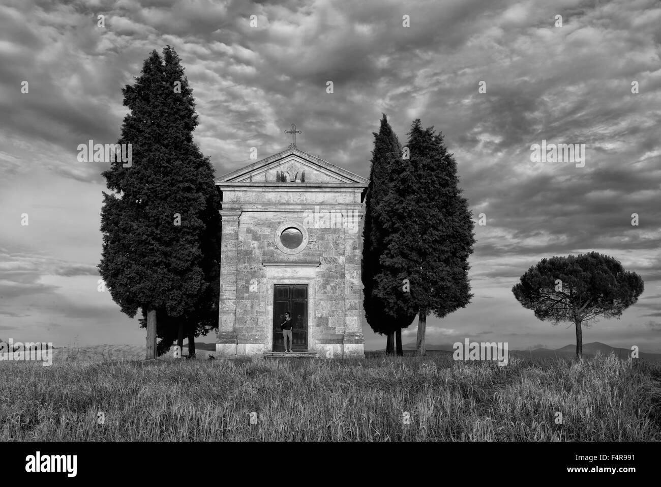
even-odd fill
[[[217,355],[284,355],[280,323],[289,311],[295,354],[364,356],[360,261],[368,183],[299,150],[294,138],[288,149],[216,179]]]

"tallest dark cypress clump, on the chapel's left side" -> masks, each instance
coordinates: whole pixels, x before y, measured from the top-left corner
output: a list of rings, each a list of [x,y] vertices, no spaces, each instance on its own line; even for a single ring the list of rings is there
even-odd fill
[[[128,167],[112,162],[102,173],[114,193],[103,193],[98,269],[122,312],[134,317],[141,308],[146,316],[147,359],[153,359],[157,315],[160,349],[164,339],[172,343],[182,320],[189,339],[210,325],[219,197],[214,169],[193,142],[195,103],[175,50],[167,46],[163,58],[151,52],[122,93],[130,112],[118,143],[132,144],[133,160]]]

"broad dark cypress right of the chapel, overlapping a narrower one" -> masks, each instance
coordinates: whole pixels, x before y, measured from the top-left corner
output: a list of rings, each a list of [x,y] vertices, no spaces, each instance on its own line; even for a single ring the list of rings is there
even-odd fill
[[[475,237],[468,202],[461,197],[457,163],[442,134],[414,120],[408,132],[410,160],[394,167],[397,180],[383,202],[383,270],[374,292],[385,310],[406,308],[418,314],[416,349],[424,355],[426,318],[438,318],[466,306],[473,295],[468,257]],[[410,292],[402,293],[408,279]]]

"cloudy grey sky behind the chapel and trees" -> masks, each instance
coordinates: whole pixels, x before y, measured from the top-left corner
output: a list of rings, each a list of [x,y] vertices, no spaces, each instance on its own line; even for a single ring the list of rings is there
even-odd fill
[[[292,122],[299,148],[365,177],[381,112],[401,142],[414,118],[442,130],[486,226],[475,228],[475,298],[430,317],[428,342],[574,343],[572,327],[539,322],[511,288],[542,257],[596,250],[639,273],[645,292],[584,342],[661,352],[660,25],[654,0],[4,0],[0,337],[145,343],[97,290],[106,164],[77,161],[77,145],[116,142],[121,88],[170,44],[216,175],[251,162],[253,146],[260,157],[286,148]],[[532,162],[542,140],[585,144],[584,167]],[[368,349],[385,346],[364,333]]]

